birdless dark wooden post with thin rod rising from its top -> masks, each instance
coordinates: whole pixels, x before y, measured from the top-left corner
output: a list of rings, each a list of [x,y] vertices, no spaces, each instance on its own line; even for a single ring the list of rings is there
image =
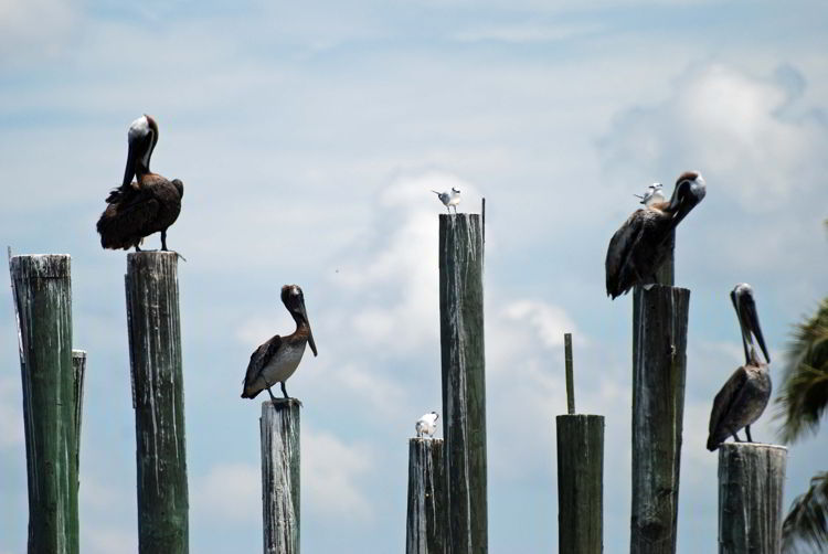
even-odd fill
[[[558,552],[601,554],[604,550],[604,416],[575,414],[572,334],[566,352],[566,415],[558,426]]]

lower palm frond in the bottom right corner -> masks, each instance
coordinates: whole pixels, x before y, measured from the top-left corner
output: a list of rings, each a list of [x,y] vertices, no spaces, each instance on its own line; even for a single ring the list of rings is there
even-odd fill
[[[790,504],[782,524],[782,552],[826,552],[828,550],[828,471],[814,476],[810,487]]]

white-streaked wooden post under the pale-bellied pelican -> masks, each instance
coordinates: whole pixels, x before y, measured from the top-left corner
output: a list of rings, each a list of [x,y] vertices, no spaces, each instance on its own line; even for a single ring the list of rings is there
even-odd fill
[[[299,553],[299,406],[262,403],[262,510],[265,554]]]

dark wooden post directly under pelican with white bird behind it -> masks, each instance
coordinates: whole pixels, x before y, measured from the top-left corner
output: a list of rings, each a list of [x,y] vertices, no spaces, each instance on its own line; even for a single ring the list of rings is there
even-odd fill
[[[662,285],[633,297],[633,554],[676,552],[689,306]]]

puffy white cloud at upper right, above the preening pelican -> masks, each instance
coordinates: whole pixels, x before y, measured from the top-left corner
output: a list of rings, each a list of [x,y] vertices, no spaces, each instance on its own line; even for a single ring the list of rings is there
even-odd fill
[[[723,64],[691,66],[668,99],[618,118],[605,142],[611,167],[662,179],[700,169],[709,192],[754,213],[822,187],[828,164],[817,160],[828,126],[798,105],[804,85],[792,84],[792,72],[799,76],[792,67],[763,78]]]

